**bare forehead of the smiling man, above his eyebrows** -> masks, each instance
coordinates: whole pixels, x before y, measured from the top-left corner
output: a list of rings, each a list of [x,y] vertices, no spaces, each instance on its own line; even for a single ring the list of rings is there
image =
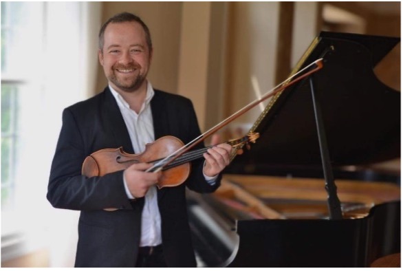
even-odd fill
[[[146,33],[140,23],[131,21],[124,23],[109,23],[105,29],[104,45],[125,45],[136,43],[146,45]]]

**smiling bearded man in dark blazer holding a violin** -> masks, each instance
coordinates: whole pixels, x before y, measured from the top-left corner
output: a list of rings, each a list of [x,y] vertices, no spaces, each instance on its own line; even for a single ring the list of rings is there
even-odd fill
[[[124,12],[100,30],[98,56],[109,86],[63,111],[47,199],[80,210],[76,267],[193,267],[185,187],[211,193],[230,161],[220,144],[193,162],[181,185],[157,189],[161,172],[138,163],[102,177],[81,175],[85,158],[100,149],[142,153],[145,144],[173,135],[185,144],[199,127],[187,98],[153,89],[146,80],[153,47],[142,20]],[[105,208],[118,210],[107,211]]]

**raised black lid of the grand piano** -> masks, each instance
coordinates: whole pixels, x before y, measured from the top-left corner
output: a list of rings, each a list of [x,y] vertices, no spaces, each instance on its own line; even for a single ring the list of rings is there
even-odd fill
[[[301,68],[294,69],[293,73],[323,57],[323,69],[313,80],[334,166],[400,157],[400,92],[373,73],[373,67],[399,42],[385,36],[321,32],[297,65]],[[320,166],[309,80],[287,87],[274,100],[251,129],[260,138],[230,168]]]

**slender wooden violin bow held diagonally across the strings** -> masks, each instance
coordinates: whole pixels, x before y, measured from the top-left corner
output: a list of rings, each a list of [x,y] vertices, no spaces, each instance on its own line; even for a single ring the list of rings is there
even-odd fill
[[[260,102],[263,102],[263,100],[265,100],[267,98],[270,98],[270,96],[272,96],[274,94],[276,89],[278,89],[279,87],[283,86],[285,83],[289,82],[292,78],[294,78],[294,77],[298,76],[299,74],[305,72],[307,69],[309,69],[313,65],[318,65],[318,63],[320,63],[322,60],[323,60],[323,58],[317,59],[316,61],[314,61],[311,64],[307,65],[306,67],[304,67],[300,71],[296,72],[292,76],[290,76],[287,79],[283,80],[283,82],[279,83],[279,85],[276,85],[276,87],[274,87],[274,88],[270,89],[269,91],[267,91],[266,94],[264,94],[262,98],[254,100],[254,101],[250,102],[248,105],[246,105],[246,107],[243,107],[243,108],[239,109],[237,112],[233,113],[231,116],[229,116],[225,120],[222,120],[221,122],[216,124],[214,127],[208,129],[208,131],[206,131],[205,133],[202,133],[197,138],[195,138],[192,141],[188,142],[188,144],[186,144],[183,147],[177,149],[177,151],[174,151],[173,153],[171,153],[171,155],[166,156],[166,158],[164,158],[160,162],[157,162],[156,164],[154,164],[150,169],[146,170],[146,172],[151,172],[151,171],[156,172],[156,171],[162,170],[162,168],[166,164],[166,161],[169,162],[169,160],[171,160],[171,158],[173,158],[175,155],[177,155],[177,153],[179,153],[179,152],[183,151],[184,149],[188,148],[188,146],[190,146],[191,144],[197,142],[197,140],[199,140],[200,138],[203,138],[205,135],[209,135],[209,133],[212,133],[212,131],[215,131],[215,129],[217,127],[219,127],[221,124],[224,124],[224,123],[228,122],[228,120],[230,120],[233,116],[236,116],[238,113],[241,113],[243,110],[248,109],[248,107],[252,108],[252,105],[254,105],[256,102],[260,103]],[[286,85],[286,87],[287,87],[287,85]]]

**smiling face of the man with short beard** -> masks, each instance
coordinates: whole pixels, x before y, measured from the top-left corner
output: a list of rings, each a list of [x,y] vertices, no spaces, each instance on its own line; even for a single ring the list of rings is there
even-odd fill
[[[109,23],[98,57],[113,89],[133,92],[145,86],[151,51],[140,23]]]

